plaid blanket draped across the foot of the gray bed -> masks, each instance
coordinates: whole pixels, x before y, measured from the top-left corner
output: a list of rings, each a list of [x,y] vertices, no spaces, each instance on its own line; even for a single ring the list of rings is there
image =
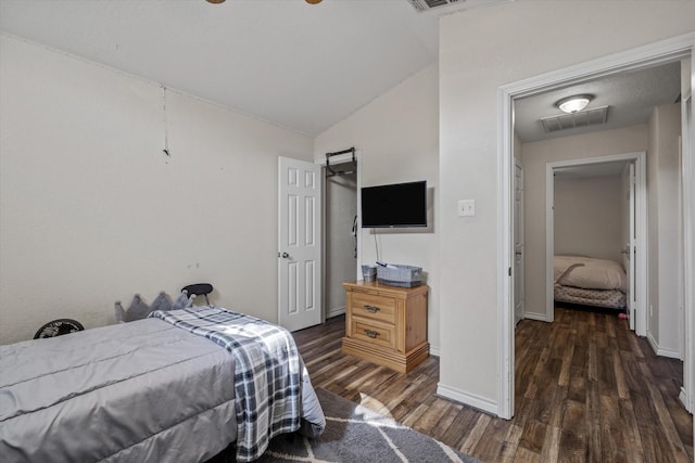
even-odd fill
[[[233,356],[238,461],[260,458],[274,436],[300,428],[302,362],[287,330],[213,306],[150,317],[205,336]]]

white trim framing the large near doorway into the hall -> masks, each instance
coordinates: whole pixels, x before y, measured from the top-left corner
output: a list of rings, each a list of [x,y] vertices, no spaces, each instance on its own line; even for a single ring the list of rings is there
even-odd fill
[[[540,93],[553,88],[576,83],[583,80],[593,79],[601,76],[616,74],[621,70],[629,70],[644,67],[646,65],[670,62],[675,59],[690,56],[694,68],[691,69],[691,87],[695,82],[695,33],[673,37],[658,41],[633,50],[623,51],[577,64],[556,72],[543,74],[529,79],[520,80],[497,90],[497,248],[501,249],[497,257],[497,415],[510,419],[514,415],[514,300],[511,297],[510,269],[514,258],[514,233],[513,226],[513,192],[511,182],[514,175],[514,99]],[[691,99],[691,106],[693,105]],[[695,130],[693,124],[687,127],[692,132]],[[690,236],[695,232],[695,201],[693,195],[693,181],[695,181],[695,153],[693,144],[690,144],[687,152],[684,152],[684,164],[687,169],[683,172],[684,192],[687,204],[684,204],[684,231]],[[691,197],[688,197],[688,194]],[[695,330],[695,317],[693,316],[695,304],[695,243],[691,237],[685,240],[685,313],[690,323],[686,323],[686,339],[693,345],[693,330]],[[695,368],[693,366],[693,355],[686,349],[684,362],[684,395],[692,411],[693,408],[693,383],[695,382]],[[687,364],[685,364],[687,363]]]

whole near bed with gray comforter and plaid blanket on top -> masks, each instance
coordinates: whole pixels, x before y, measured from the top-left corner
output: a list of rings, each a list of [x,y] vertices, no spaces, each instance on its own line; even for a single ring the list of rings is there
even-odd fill
[[[233,333],[276,325],[240,314],[225,325],[219,317],[233,312],[202,309],[0,346],[2,461],[197,462],[233,441],[237,460],[251,461],[278,433],[320,434],[324,415],[301,357],[283,353],[295,350],[291,335],[279,343],[291,346],[269,358],[270,340],[239,343]],[[192,321],[201,314],[213,322]],[[282,329],[273,332],[277,338]],[[265,351],[255,364],[273,368],[240,371],[250,351]],[[278,395],[299,401],[278,412]]]

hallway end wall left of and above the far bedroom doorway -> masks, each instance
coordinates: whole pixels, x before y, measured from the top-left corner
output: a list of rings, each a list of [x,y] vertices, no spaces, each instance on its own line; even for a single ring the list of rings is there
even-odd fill
[[[601,157],[647,150],[645,125],[525,143],[526,312],[545,319],[545,168],[558,160]],[[618,223],[618,222],[617,222]],[[617,259],[621,261],[622,259]]]

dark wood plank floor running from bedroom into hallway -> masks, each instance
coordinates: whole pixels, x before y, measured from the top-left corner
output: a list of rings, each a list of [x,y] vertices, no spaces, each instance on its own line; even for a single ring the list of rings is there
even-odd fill
[[[516,413],[502,420],[438,397],[439,359],[407,374],[341,352],[344,318],[294,333],[315,387],[484,462],[692,462],[682,363],[656,357],[615,313],[557,308],[516,331]]]

